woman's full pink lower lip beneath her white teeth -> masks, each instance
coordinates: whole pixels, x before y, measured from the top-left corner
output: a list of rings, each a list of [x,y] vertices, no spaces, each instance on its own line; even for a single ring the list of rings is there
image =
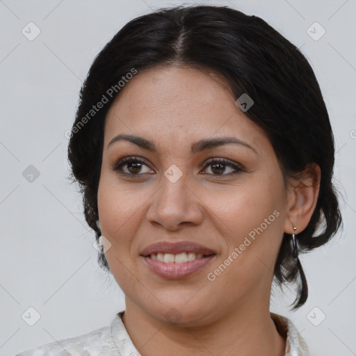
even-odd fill
[[[143,257],[143,259],[147,266],[156,273],[156,275],[170,280],[178,280],[179,278],[193,275],[197,270],[201,270],[207,266],[214,257],[216,257],[216,254],[201,259],[194,259],[193,261],[183,262],[181,264],[176,264],[175,262],[165,264],[164,262],[150,259],[149,257]]]

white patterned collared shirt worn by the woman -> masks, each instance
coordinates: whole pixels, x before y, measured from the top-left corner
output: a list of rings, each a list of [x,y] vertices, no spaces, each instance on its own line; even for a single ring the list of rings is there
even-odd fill
[[[15,356],[140,356],[122,322],[124,311],[115,314],[111,325],[79,337],[63,339]],[[293,323],[270,313],[277,329],[286,336],[285,356],[309,356],[308,348]]]

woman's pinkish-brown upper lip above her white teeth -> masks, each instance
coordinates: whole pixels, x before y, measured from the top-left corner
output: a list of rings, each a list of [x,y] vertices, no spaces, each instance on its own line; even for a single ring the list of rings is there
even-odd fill
[[[210,248],[207,248],[199,243],[191,241],[181,241],[181,242],[166,242],[161,241],[157,243],[152,243],[152,245],[147,246],[144,250],[140,252],[141,256],[148,256],[149,254],[158,254],[158,253],[170,253],[170,254],[179,254],[183,252],[194,252],[196,254],[216,254]]]

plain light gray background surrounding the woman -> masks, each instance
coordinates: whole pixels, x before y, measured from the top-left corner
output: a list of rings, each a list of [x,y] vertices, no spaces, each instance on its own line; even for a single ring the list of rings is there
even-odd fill
[[[133,17],[179,3],[0,0],[0,356],[108,325],[124,307],[122,291],[97,266],[81,197],[65,179],[65,131],[104,44]],[[345,225],[334,241],[303,257],[307,304],[291,313],[293,294],[276,291],[272,311],[291,318],[311,355],[355,355],[355,0],[204,3],[262,17],[302,49],[316,72],[336,139]],[[29,22],[41,31],[33,41],[22,34]],[[317,41],[307,33],[314,22],[326,30]],[[22,175],[29,165],[40,171],[32,183]],[[32,327],[22,319],[29,307],[41,316]],[[321,313],[325,320],[313,325],[309,319],[316,323]]]

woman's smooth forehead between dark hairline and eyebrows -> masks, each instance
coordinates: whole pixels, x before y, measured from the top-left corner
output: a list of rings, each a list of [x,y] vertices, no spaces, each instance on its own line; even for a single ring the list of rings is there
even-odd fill
[[[191,67],[159,67],[133,76],[108,111],[106,145],[122,132],[176,141],[236,133],[254,143],[265,136],[236,106],[225,79]]]

